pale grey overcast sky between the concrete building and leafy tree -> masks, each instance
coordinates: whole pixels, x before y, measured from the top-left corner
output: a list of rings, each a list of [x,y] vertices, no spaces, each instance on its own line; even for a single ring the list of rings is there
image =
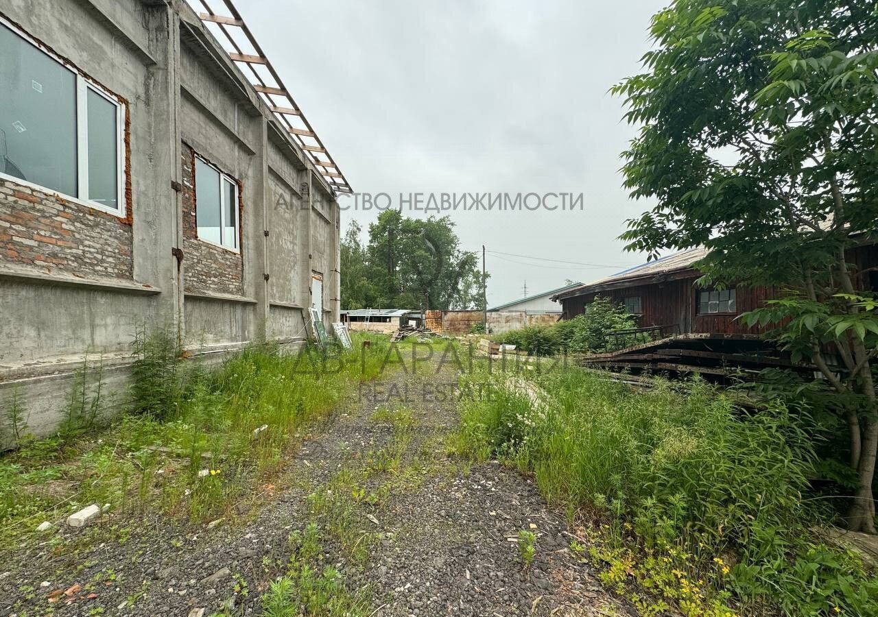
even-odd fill
[[[666,0],[248,0],[238,9],[356,192],[585,194],[576,212],[451,212],[488,305],[644,262],[616,240],[634,131],[608,88]],[[345,199],[342,198],[342,204]],[[349,202],[352,203],[352,202]],[[404,212],[425,216],[422,212]],[[342,212],[363,226],[378,212]],[[342,228],[343,233],[343,228]],[[601,264],[601,268],[563,262]]]

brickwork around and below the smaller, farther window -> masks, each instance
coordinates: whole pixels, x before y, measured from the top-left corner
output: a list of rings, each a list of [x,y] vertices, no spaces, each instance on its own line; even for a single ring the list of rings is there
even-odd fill
[[[244,295],[241,253],[198,240],[195,208],[195,152],[183,145],[184,290],[191,293]],[[241,192],[241,187],[238,187]],[[243,220],[243,217],[241,217]]]

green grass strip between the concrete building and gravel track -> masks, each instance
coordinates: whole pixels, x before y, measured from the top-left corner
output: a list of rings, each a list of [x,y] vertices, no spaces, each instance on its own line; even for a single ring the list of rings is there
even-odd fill
[[[140,339],[132,396],[109,426],[80,423],[48,439],[25,437],[0,457],[0,537],[90,503],[184,520],[249,507],[278,481],[307,432],[356,384],[378,377],[388,341],[371,337],[363,355],[360,341],[341,363],[324,362],[314,349],[282,355],[258,345],[210,367],[184,361],[167,341]],[[18,399],[15,405],[18,417]]]

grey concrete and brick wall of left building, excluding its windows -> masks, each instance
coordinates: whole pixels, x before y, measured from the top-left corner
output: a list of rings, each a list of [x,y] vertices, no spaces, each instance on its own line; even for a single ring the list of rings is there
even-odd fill
[[[0,413],[14,392],[51,432],[85,355],[124,392],[142,326],[196,354],[298,344],[312,270],[339,319],[335,197],[187,4],[7,0],[0,17],[124,104],[127,182],[117,216],[0,179]],[[198,239],[193,153],[239,183],[239,253]]]

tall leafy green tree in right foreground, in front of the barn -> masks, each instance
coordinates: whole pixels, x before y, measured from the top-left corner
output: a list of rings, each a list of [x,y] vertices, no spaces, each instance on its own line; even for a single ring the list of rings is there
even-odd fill
[[[655,202],[622,237],[651,255],[703,244],[706,281],[794,292],[749,319],[778,325],[846,400],[848,524],[874,532],[878,320],[846,252],[878,233],[875,4],[677,0],[651,34],[645,72],[613,89],[642,125],[625,186]]]

